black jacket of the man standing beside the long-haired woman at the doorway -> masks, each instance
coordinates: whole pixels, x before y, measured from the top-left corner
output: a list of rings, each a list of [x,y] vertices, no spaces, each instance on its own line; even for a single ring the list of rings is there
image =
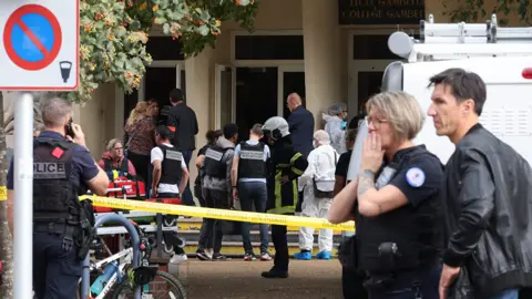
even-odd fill
[[[196,113],[185,103],[170,109],[166,125],[174,131],[172,145],[183,152],[196,150],[195,135],[197,134]]]

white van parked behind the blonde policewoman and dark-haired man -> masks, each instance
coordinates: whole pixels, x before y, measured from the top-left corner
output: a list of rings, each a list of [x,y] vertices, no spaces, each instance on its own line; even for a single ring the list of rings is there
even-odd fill
[[[395,32],[388,39],[388,47],[405,61],[387,66],[382,91],[408,92],[427,111],[432,75],[450,68],[475,72],[488,87],[481,124],[532,164],[532,28],[499,28],[495,16],[485,23],[438,24],[430,16],[428,22],[420,23],[420,40]],[[365,127],[361,125],[361,130]],[[354,148],[348,181],[358,173],[361,151],[358,140],[361,138],[357,138]],[[415,143],[424,144],[443,164],[454,152],[447,136],[436,135],[429,116]]]

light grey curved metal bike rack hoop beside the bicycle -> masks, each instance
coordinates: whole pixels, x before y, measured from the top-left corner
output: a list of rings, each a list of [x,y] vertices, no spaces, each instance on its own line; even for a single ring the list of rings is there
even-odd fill
[[[104,215],[98,218],[96,224],[94,225],[94,228],[98,229],[98,227],[100,227],[101,225],[110,221],[121,223],[127,230],[132,241],[132,247],[129,248],[133,251],[132,264],[133,264],[133,267],[139,267],[141,264],[141,250],[139,248],[140,237],[135,227],[124,216],[119,214],[110,214],[110,215]],[[81,278],[81,298],[84,299],[89,297],[90,283],[91,283],[91,266],[89,261],[89,255],[86,255],[85,259],[83,260],[83,274]],[[141,299],[141,286],[135,287],[134,296],[135,296],[134,297],[135,299]]]

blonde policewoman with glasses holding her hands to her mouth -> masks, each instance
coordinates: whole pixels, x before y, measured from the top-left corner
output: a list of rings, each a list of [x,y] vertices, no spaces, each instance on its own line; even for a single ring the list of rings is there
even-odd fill
[[[355,212],[358,267],[369,277],[370,298],[436,299],[442,165],[412,142],[424,118],[416,99],[383,92],[367,107],[360,173],[335,197],[329,221],[345,221]]]

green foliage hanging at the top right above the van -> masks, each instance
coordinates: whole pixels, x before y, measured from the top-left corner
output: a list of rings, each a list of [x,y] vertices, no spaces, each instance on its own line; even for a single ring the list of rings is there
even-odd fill
[[[454,7],[458,2],[458,7]],[[497,0],[491,9],[485,7],[484,0],[448,0],[443,1],[443,7],[448,9],[443,16],[449,16],[452,22],[478,22],[491,19],[492,13],[497,13],[500,25],[508,24],[508,17],[515,14],[523,24],[532,23],[530,0]]]

